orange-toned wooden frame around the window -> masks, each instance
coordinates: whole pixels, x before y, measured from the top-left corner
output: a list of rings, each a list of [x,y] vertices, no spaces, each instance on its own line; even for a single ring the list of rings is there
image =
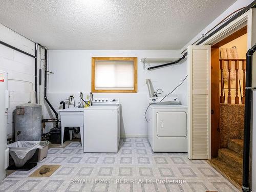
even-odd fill
[[[134,89],[133,90],[96,90],[95,89],[95,61],[96,60],[133,60],[134,61]],[[137,93],[138,69],[137,57],[92,57],[92,92],[93,93]]]

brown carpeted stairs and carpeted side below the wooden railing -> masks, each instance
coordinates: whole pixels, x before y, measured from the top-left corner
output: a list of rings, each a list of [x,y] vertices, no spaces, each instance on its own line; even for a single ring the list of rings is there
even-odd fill
[[[242,186],[244,104],[220,104],[220,147],[218,156],[209,162]]]

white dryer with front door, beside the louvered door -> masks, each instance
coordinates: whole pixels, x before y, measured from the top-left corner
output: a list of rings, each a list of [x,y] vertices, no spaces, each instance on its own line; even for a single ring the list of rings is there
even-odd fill
[[[187,106],[177,97],[149,98],[148,140],[153,152],[187,152]]]

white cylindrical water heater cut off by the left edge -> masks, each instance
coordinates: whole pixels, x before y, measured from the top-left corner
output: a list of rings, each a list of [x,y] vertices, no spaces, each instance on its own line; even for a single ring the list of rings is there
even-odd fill
[[[9,108],[8,73],[0,70],[0,181],[6,177],[9,165],[7,148],[7,109]]]

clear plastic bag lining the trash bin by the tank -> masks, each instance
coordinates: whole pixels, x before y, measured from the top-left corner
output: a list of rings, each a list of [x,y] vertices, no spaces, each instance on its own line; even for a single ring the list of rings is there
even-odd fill
[[[35,153],[40,146],[40,141],[16,141],[7,145],[15,166],[22,167]]]

